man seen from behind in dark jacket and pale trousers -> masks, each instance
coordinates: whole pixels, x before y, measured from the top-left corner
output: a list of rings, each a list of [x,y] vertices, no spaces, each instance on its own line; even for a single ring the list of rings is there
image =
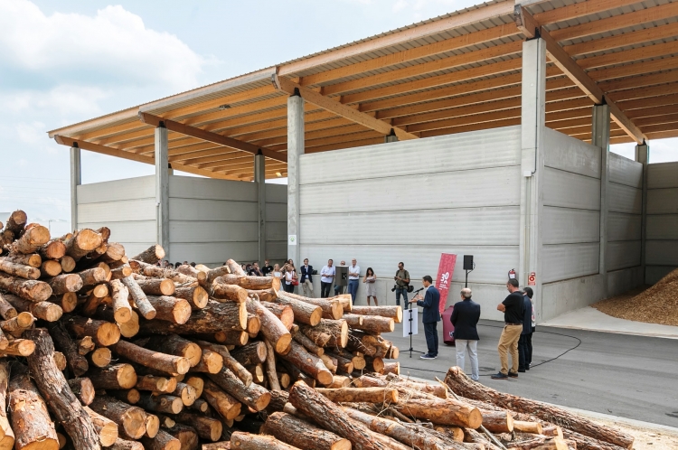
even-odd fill
[[[450,322],[455,325],[455,346],[457,346],[457,366],[464,370],[466,349],[468,359],[471,360],[471,380],[477,381],[478,375],[478,330],[476,325],[480,320],[480,305],[471,300],[471,289],[465,287],[461,290],[461,302],[455,304]]]

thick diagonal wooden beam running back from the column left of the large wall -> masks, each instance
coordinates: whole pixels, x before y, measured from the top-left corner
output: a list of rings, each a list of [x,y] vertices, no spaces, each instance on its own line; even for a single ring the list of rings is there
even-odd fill
[[[327,111],[333,112],[337,116],[344,117],[352,122],[355,122],[356,124],[362,125],[363,127],[378,131],[382,135],[389,135],[392,129],[400,140],[416,139],[419,137],[408,133],[399,127],[391,127],[389,122],[384,122],[383,120],[374,118],[369,114],[360,112],[357,109],[343,105],[333,98],[327,98],[315,92],[315,90],[304,88],[303,86],[299,86],[297,83],[278,77],[277,75],[273,77],[273,83],[279,90],[287,92],[290,95],[294,95],[296,92],[298,92],[298,94],[301,95],[301,97],[307,102],[313,103],[317,107],[325,108]]]

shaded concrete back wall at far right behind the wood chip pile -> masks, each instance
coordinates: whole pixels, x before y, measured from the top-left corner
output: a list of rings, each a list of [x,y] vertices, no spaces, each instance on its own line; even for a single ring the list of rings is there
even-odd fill
[[[647,165],[645,283],[678,267],[678,163]]]

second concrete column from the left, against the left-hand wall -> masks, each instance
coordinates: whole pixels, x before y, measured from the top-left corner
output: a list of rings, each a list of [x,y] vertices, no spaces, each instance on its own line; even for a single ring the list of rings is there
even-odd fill
[[[167,128],[155,128],[155,229],[156,243],[165,248],[169,259],[169,162]]]

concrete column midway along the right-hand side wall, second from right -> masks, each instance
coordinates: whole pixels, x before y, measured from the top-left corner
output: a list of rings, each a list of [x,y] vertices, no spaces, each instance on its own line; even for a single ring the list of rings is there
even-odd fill
[[[603,298],[607,298],[607,186],[609,185],[609,107],[593,107],[591,144],[600,147],[600,253],[598,273],[603,277]]]

